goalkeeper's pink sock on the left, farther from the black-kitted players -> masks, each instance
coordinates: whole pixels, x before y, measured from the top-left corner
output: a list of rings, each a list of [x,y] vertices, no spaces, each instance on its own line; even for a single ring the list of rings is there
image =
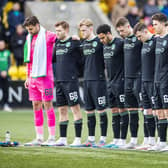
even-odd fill
[[[42,109],[34,111],[34,122],[37,137],[40,138],[43,136],[43,122],[44,122]]]

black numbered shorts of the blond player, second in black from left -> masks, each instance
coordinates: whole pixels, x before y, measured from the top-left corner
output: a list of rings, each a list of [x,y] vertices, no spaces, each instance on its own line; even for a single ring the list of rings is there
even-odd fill
[[[85,109],[104,110],[107,106],[106,81],[84,81]]]

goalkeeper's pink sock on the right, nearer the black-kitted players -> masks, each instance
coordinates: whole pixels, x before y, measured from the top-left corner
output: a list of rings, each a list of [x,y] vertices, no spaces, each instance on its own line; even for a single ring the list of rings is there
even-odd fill
[[[55,136],[55,113],[54,108],[47,110],[48,131],[50,136]]]

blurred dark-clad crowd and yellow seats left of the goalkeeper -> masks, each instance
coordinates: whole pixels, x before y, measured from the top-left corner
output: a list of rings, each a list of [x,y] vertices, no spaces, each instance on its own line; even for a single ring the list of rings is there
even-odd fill
[[[26,32],[22,24],[24,22],[25,0],[1,0],[0,1],[0,61],[9,54],[8,74],[13,80],[26,78],[25,66],[23,66],[23,48],[26,40]],[[2,69],[0,68],[0,71]],[[19,76],[23,74],[24,76]]]

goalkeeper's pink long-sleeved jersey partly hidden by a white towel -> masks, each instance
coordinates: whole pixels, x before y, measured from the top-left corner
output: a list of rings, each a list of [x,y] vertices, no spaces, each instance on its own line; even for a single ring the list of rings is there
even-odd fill
[[[31,41],[31,50],[30,50],[30,62],[28,63],[28,78],[31,78],[31,72],[32,72],[32,65],[33,65],[33,53],[34,53],[34,46],[35,42],[37,39],[37,35],[34,35]],[[46,31],[46,45],[47,45],[47,74],[46,77],[50,79],[53,78],[53,68],[52,68],[52,50],[53,50],[53,45],[56,40],[56,34],[50,31]],[[42,68],[42,67],[41,67]],[[39,78],[34,78],[34,80],[38,80],[41,78],[45,77],[39,77]]]

